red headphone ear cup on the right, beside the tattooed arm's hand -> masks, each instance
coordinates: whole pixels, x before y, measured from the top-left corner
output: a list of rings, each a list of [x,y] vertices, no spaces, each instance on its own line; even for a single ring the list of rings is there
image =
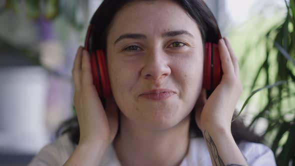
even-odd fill
[[[220,83],[222,76],[221,61],[218,45],[211,42],[205,43],[203,88],[213,91]]]

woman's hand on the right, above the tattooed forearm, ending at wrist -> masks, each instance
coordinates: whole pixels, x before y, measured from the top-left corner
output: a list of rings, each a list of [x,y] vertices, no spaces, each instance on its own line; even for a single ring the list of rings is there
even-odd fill
[[[238,62],[227,38],[219,40],[218,48],[223,70],[221,82],[207,100],[202,89],[195,105],[195,121],[202,132],[208,127],[230,132],[233,111],[242,92]]]

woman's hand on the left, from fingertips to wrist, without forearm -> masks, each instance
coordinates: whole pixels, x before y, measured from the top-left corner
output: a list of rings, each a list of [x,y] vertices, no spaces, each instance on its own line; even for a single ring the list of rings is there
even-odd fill
[[[74,106],[80,128],[79,144],[112,142],[118,129],[118,108],[113,97],[106,98],[106,110],[92,82],[88,52],[79,47],[72,69]]]

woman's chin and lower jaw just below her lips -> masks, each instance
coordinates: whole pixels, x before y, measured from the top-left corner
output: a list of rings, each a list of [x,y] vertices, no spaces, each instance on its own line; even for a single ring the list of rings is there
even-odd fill
[[[141,100],[129,102],[121,109],[128,123],[148,130],[165,130],[189,122],[191,109],[181,100],[171,98],[161,101]],[[131,106],[132,105],[132,106]]]

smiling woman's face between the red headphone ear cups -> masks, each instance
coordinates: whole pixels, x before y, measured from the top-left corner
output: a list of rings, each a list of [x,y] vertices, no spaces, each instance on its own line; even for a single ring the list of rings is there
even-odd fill
[[[201,90],[200,31],[175,2],[130,3],[110,26],[107,65],[113,96],[128,122],[149,129],[175,126],[189,119]]]

